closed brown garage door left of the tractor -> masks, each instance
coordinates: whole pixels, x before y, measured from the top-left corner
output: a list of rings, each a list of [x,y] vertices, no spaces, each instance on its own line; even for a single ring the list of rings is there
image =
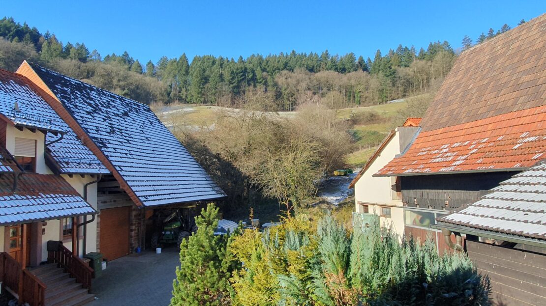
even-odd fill
[[[108,260],[129,254],[130,207],[100,209],[100,253]]]

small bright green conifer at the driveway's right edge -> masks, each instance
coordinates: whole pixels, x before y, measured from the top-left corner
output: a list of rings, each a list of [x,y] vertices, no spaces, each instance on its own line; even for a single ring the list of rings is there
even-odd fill
[[[214,235],[218,208],[209,204],[195,218],[198,230],[180,244],[171,306],[227,305],[230,259],[227,235]]]

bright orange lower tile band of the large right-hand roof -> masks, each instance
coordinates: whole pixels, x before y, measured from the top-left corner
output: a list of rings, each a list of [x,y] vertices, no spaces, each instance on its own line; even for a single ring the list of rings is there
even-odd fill
[[[546,157],[546,105],[423,131],[376,175],[524,169]]]

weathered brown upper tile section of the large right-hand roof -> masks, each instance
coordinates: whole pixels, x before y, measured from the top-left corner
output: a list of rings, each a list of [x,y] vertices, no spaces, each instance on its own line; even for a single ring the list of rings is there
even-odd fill
[[[546,104],[546,14],[461,53],[423,131]]]

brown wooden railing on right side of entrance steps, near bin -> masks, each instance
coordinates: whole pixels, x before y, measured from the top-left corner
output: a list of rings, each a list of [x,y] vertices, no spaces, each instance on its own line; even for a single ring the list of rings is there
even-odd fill
[[[81,283],[82,287],[91,292],[93,269],[64,245],[60,244],[56,251],[49,251],[48,260],[58,263],[70,274],[70,277],[76,279],[76,283]]]

